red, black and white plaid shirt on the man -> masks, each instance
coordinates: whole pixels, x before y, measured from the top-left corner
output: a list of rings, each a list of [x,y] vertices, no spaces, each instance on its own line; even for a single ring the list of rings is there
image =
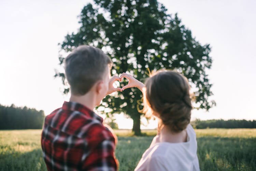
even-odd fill
[[[102,122],[84,105],[66,101],[46,116],[41,144],[47,169],[117,170],[117,139]]]

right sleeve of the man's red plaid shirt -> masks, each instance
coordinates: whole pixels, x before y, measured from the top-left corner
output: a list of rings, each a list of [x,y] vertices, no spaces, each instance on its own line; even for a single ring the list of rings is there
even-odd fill
[[[115,138],[106,129],[92,128],[90,131],[89,155],[83,162],[82,170],[90,171],[115,171],[118,161],[114,156]],[[85,154],[87,152],[85,151]]]

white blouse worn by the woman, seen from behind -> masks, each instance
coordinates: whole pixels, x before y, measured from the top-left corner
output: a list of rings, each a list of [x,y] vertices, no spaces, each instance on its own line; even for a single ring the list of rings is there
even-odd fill
[[[196,133],[189,124],[187,142],[157,142],[154,137],[134,171],[199,171]]]

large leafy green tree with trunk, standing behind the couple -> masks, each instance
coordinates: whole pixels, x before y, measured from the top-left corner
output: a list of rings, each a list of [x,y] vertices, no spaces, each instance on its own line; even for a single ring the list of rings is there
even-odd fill
[[[206,69],[211,67],[210,45],[201,45],[175,14],[157,0],[94,0],[80,14],[81,27],[60,43],[66,52],[83,44],[101,48],[113,60],[112,74],[129,72],[144,81],[149,71],[162,68],[183,73],[195,92],[199,108],[209,109],[214,101]],[[60,65],[63,65],[60,56]],[[65,75],[57,72],[65,84]],[[121,83],[124,86],[126,82]],[[64,92],[69,89],[66,87]],[[137,88],[126,89],[103,100],[110,113],[124,112],[133,119],[133,131],[140,134],[140,102]]]

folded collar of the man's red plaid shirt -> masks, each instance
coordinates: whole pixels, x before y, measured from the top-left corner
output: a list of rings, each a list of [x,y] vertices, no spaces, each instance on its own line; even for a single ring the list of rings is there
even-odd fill
[[[64,101],[62,105],[63,110],[70,110],[70,111],[79,111],[93,119],[99,120],[101,123],[103,123],[103,118],[97,115],[94,111],[87,108],[85,105],[73,101]]]

